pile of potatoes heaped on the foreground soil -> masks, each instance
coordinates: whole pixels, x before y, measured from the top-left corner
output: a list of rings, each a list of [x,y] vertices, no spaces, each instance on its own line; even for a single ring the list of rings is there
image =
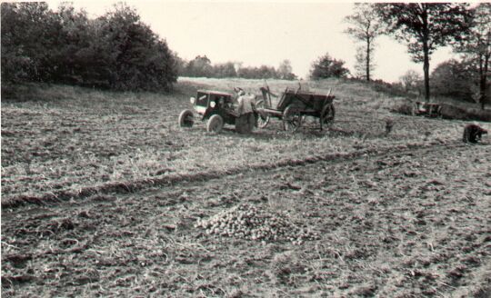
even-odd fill
[[[307,240],[319,239],[317,233],[289,223],[280,214],[258,210],[249,204],[239,204],[208,219],[200,219],[196,227],[204,228],[207,234],[263,243],[291,241],[302,244]]]

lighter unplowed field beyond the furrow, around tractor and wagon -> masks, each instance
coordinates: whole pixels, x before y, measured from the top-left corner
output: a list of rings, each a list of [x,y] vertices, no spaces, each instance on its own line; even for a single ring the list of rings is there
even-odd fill
[[[229,90],[233,84],[245,85],[252,92],[249,85],[261,83],[221,81],[227,84],[222,86],[215,81],[201,86]],[[272,82],[272,87],[279,91],[287,84],[292,83]],[[332,84],[316,90],[326,92]],[[336,83],[336,123],[330,131],[319,132],[311,123],[292,135],[274,120],[255,134],[235,134],[232,127],[220,135],[205,134],[204,123],[192,129],[177,127],[177,115],[189,107],[194,85],[180,84],[174,95],[104,94],[59,86],[32,94],[40,97],[36,102],[6,101],[2,204],[134,189],[167,178],[174,181],[176,176],[223,174],[319,154],[446,142],[458,139],[465,125],[390,114],[391,100],[397,99],[364,90],[360,84]],[[389,137],[383,137],[386,117],[396,117]]]

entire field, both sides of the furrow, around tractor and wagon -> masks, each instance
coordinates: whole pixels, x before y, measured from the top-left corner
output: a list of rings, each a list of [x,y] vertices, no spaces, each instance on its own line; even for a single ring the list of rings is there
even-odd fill
[[[199,88],[259,94],[262,84],[182,78],[173,94],[61,85],[3,94],[2,294],[486,296],[489,137],[462,144],[466,122],[393,114],[403,98],[336,80],[302,82],[336,95],[323,132],[313,119],[296,134],[275,119],[246,135],[177,125]],[[239,205],[318,236],[261,241],[236,232],[246,219],[197,224]],[[257,233],[281,236],[257,216]]]

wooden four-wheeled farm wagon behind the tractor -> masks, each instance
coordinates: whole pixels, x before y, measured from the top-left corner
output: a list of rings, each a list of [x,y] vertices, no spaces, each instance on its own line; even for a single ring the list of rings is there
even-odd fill
[[[327,94],[315,94],[311,92],[296,91],[286,88],[281,94],[281,98],[276,105],[276,109],[271,106],[271,95],[269,87],[261,87],[263,99],[256,102],[257,126],[265,128],[271,117],[282,119],[283,127],[287,132],[296,132],[302,125],[305,116],[319,118],[320,129],[331,124],[335,118],[335,108],[331,95],[331,90]]]

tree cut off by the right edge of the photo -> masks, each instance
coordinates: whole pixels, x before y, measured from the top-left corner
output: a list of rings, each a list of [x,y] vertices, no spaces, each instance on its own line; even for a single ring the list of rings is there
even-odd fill
[[[474,18],[470,25],[470,30],[466,31],[462,39],[456,43],[455,50],[476,64],[479,102],[484,109],[485,104],[491,104],[488,83],[488,78],[491,75],[491,3],[481,3],[476,6]]]

